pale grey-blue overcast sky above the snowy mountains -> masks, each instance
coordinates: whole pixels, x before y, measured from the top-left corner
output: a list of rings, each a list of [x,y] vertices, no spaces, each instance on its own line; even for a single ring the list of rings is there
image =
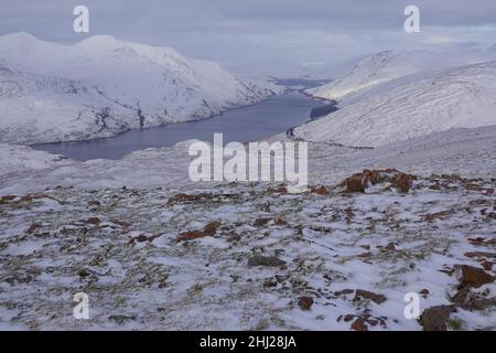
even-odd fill
[[[90,35],[173,46],[236,66],[290,58],[338,63],[381,50],[489,47],[496,42],[495,0],[0,0],[0,34],[28,31],[72,43],[73,9],[90,10]],[[403,31],[416,4],[421,33]]]

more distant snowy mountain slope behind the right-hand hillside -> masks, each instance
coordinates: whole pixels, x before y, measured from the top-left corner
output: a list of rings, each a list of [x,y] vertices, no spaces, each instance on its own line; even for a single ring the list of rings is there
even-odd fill
[[[367,89],[408,75],[445,69],[455,65],[488,60],[479,53],[434,53],[411,51],[380,52],[360,61],[351,72],[332,83],[308,93],[327,99],[343,100]]]

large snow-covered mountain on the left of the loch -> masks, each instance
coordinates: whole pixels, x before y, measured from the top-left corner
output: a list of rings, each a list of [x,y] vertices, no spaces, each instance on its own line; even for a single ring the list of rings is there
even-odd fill
[[[112,136],[209,117],[272,95],[213,62],[169,47],[93,36],[73,45],[0,38],[0,141]]]

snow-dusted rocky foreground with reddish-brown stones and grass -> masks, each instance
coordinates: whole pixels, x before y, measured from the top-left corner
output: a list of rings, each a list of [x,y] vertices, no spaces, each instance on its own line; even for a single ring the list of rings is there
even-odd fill
[[[0,329],[495,330],[494,179],[0,199]],[[90,319],[73,317],[89,296]],[[419,293],[409,320],[405,295]]]

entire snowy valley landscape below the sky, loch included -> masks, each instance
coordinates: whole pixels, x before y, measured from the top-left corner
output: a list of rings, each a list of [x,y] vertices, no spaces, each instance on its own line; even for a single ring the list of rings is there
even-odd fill
[[[496,330],[494,55],[330,82],[100,35],[0,49],[0,330]],[[308,143],[308,184],[193,181],[214,133]]]

